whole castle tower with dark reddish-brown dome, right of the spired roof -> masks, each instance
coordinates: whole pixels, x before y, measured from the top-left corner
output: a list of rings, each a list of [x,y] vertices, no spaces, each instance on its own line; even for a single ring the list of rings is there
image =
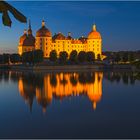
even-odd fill
[[[49,29],[45,27],[45,21],[42,21],[42,27],[36,32],[36,49],[41,49],[44,57],[49,57],[51,51],[52,35]]]

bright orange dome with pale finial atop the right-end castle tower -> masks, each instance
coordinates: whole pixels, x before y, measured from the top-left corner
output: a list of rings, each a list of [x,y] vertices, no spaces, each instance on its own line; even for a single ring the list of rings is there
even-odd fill
[[[96,25],[93,25],[92,31],[88,34],[88,39],[101,39],[101,35],[96,31]]]

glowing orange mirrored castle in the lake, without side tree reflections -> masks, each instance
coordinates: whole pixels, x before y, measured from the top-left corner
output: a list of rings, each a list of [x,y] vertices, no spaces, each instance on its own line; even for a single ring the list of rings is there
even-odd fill
[[[19,78],[18,88],[30,110],[34,97],[45,112],[53,99],[62,100],[65,97],[80,95],[86,95],[95,110],[102,97],[102,79],[102,72],[30,74]]]

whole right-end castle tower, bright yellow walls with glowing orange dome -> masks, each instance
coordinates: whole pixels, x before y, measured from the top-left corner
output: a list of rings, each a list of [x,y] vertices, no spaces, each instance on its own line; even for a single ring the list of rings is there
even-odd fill
[[[93,25],[92,31],[88,34],[87,50],[92,51],[95,54],[95,59],[102,57],[102,38],[99,32],[96,30],[96,25]]]

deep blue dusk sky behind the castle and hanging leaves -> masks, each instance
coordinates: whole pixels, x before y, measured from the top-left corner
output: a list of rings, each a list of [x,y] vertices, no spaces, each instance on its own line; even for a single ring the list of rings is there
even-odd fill
[[[103,39],[104,51],[140,49],[140,2],[49,2],[9,1],[30,18],[33,34],[41,27],[42,19],[52,34],[70,31],[74,38],[87,36],[96,23]],[[19,37],[27,24],[11,15],[12,27],[5,27],[0,15],[0,53],[16,52]]]

